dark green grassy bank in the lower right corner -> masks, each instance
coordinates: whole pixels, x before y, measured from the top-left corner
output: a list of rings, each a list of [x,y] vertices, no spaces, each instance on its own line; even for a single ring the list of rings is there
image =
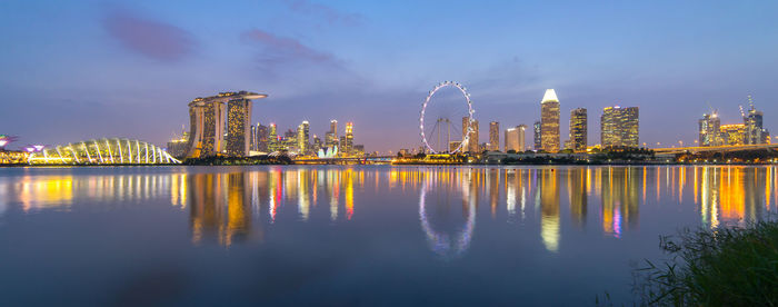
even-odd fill
[[[686,229],[660,247],[670,259],[635,270],[638,305],[778,306],[778,222]]]

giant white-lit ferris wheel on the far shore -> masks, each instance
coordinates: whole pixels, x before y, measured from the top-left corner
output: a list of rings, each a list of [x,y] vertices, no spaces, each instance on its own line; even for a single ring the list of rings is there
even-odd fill
[[[455,93],[449,92],[448,97],[435,98],[438,92],[447,88],[456,89]],[[459,96],[463,96],[461,101]],[[472,115],[476,111],[470,101],[470,93],[467,89],[455,81],[440,82],[425,99],[421,105],[421,116],[419,117],[419,130],[421,142],[430,154],[457,154],[465,151],[470,132]],[[461,119],[461,126],[458,123]]]

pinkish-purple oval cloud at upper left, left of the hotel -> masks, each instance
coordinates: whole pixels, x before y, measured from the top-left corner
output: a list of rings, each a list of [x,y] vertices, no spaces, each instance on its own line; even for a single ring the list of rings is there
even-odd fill
[[[129,50],[160,61],[177,61],[194,49],[194,40],[186,30],[132,14],[112,11],[103,20],[103,27]]]

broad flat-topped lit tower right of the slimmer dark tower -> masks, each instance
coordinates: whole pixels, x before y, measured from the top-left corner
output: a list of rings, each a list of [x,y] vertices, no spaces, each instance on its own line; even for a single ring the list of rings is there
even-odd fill
[[[607,107],[600,117],[602,147],[638,147],[638,107]]]

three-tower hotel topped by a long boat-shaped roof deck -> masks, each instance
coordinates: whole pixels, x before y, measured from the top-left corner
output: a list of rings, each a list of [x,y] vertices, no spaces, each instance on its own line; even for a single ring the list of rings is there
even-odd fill
[[[251,100],[266,97],[268,96],[265,93],[230,91],[206,98],[198,97],[189,102],[189,140],[184,157],[248,156]]]

